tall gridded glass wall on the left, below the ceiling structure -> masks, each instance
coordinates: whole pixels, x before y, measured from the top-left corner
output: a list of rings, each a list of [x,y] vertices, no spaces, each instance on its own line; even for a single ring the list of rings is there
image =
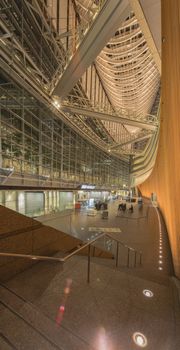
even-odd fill
[[[128,161],[98,149],[5,76],[0,94],[0,169],[14,169],[13,183],[21,179],[18,185],[23,185],[29,179],[30,186],[38,186],[40,179],[42,187],[48,183],[56,188],[128,183]],[[1,184],[10,181],[0,176]]]

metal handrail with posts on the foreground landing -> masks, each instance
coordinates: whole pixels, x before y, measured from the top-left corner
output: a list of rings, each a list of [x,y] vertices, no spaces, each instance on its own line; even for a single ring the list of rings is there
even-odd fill
[[[124,248],[127,249],[127,267],[130,267],[130,254],[133,253],[134,255],[134,262],[133,262],[133,267],[137,266],[137,259],[139,257],[139,265],[142,265],[142,252],[136,250],[135,248],[129,247],[127,244],[121,242],[117,238],[112,237],[108,233],[102,233],[98,237],[94,238],[88,243],[83,244],[81,247],[77,248],[74,250],[72,253],[66,255],[65,257],[61,258],[55,258],[55,257],[49,257],[49,256],[40,256],[40,255],[31,255],[31,254],[17,254],[17,253],[2,253],[0,252],[0,257],[13,257],[13,258],[25,258],[25,259],[30,259],[30,260],[37,260],[37,261],[49,261],[49,262],[59,262],[61,264],[64,264],[67,260],[72,258],[74,255],[78,254],[80,251],[82,251],[85,248],[88,248],[88,266],[87,266],[87,283],[90,283],[90,263],[91,263],[91,245],[98,241],[102,237],[109,237],[111,240],[116,242],[116,268],[118,267],[118,260],[119,260],[119,246],[123,246]],[[93,249],[93,257],[95,254],[95,249],[96,247],[94,246]]]

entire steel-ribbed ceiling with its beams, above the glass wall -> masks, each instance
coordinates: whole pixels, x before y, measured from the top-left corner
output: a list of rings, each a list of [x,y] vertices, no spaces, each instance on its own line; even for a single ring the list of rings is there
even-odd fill
[[[159,0],[24,0],[19,7],[2,0],[2,69],[99,149],[130,162],[132,185],[152,171],[158,144],[157,14]]]

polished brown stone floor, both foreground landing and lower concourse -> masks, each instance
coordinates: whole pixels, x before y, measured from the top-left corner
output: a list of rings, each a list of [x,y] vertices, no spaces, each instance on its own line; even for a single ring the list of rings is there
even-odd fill
[[[112,237],[142,251],[142,266],[134,268],[132,256],[127,268],[121,247],[118,267],[115,259],[91,258],[89,284],[87,257],[75,256],[63,269],[39,263],[18,274],[0,287],[0,349],[136,350],[143,343],[137,336],[135,344],[136,333],[146,338],[147,350],[180,349],[179,299],[164,224],[159,227],[150,203],[120,216],[117,206],[110,203],[108,219],[78,212],[71,221],[46,217],[46,224],[64,226],[85,241],[98,233],[89,228],[108,228]],[[104,247],[115,253],[116,244],[109,241]]]

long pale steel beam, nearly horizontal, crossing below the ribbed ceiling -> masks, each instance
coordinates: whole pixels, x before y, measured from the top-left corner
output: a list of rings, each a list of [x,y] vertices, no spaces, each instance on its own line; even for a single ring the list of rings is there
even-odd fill
[[[108,120],[111,122],[120,123],[120,124],[124,124],[124,125],[132,125],[132,126],[136,126],[138,128],[141,128],[141,129],[148,129],[148,130],[156,130],[157,129],[157,126],[150,123],[150,122],[140,121],[137,119],[128,119],[128,118],[124,118],[121,116],[113,116],[111,114],[91,111],[88,109],[74,107],[74,106],[73,107],[62,106],[61,110],[64,112],[71,113],[71,114],[80,114],[80,115],[84,115],[84,116],[90,117],[90,118]]]

